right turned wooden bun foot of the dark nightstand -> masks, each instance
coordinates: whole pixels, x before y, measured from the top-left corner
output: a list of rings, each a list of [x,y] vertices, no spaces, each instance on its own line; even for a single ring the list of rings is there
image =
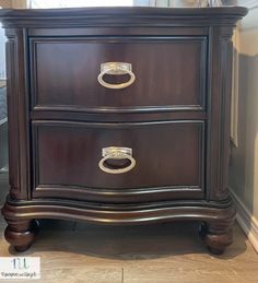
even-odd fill
[[[212,253],[222,255],[233,243],[232,225],[233,223],[215,222],[201,224],[199,235]]]

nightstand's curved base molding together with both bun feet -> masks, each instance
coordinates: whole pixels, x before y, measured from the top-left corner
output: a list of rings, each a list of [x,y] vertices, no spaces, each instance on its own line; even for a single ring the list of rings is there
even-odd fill
[[[137,225],[169,221],[200,221],[200,237],[212,253],[222,253],[232,244],[235,208],[232,200],[221,202],[172,201],[149,204],[84,203],[67,200],[12,201],[8,199],[2,213],[8,222],[7,240],[17,251],[34,241],[40,219],[85,221],[97,224]]]

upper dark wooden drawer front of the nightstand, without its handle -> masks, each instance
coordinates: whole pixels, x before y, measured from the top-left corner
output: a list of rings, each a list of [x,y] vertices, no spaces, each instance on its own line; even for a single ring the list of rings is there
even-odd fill
[[[81,111],[202,110],[207,38],[31,38],[32,107]],[[134,82],[108,89],[97,76],[105,62],[127,62]],[[104,74],[109,84],[128,74]]]

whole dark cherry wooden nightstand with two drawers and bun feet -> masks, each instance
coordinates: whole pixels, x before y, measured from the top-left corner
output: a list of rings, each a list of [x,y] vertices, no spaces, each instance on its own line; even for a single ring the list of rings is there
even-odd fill
[[[39,219],[199,221],[232,243],[233,28],[245,8],[1,10],[8,37],[7,240]]]

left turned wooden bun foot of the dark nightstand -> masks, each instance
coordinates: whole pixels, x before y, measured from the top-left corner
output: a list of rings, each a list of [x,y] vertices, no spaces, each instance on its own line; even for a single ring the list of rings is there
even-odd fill
[[[7,220],[8,227],[4,237],[16,251],[30,248],[38,233],[39,225],[36,220]]]

